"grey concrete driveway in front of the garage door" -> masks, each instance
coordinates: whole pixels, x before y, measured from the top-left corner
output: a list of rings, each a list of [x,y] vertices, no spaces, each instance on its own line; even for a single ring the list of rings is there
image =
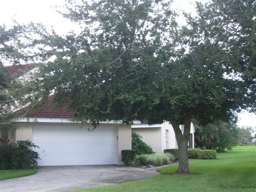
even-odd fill
[[[0,181],[0,192],[61,192],[92,188],[159,174],[155,170],[118,165],[42,166],[34,175]]]

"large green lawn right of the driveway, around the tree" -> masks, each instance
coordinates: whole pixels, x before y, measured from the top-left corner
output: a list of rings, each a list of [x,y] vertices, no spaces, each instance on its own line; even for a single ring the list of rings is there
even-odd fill
[[[247,153],[244,154],[244,150]],[[160,168],[161,175],[112,186],[72,192],[255,192],[256,146],[238,146],[216,160],[193,160],[190,171],[176,175],[178,165]]]

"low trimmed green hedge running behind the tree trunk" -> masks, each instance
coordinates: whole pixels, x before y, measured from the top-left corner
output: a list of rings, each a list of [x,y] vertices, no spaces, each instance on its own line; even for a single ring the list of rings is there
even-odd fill
[[[165,149],[164,153],[171,153],[175,160],[179,159],[178,149]],[[190,159],[216,159],[216,157],[216,150],[188,149],[188,158]]]

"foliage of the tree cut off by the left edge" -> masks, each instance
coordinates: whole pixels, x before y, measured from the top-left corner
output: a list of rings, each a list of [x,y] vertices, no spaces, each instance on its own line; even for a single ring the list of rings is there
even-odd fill
[[[10,94],[12,78],[4,68],[4,63],[20,64],[26,56],[20,52],[22,43],[19,38],[24,35],[24,26],[16,25],[10,29],[0,25],[0,130],[12,128],[11,120],[14,118],[12,107],[14,99]]]

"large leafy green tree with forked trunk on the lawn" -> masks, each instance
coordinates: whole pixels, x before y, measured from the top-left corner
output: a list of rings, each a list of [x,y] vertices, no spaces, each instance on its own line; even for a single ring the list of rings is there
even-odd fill
[[[205,125],[255,111],[253,0],[197,3],[196,16],[184,15],[186,26],[176,22],[168,1],[68,0],[66,8],[63,16],[82,32],[62,37],[37,30],[42,38],[34,44],[45,63],[18,90],[20,104],[35,108],[54,93],[54,102],[68,104],[81,122],[168,121],[179,147],[178,172],[189,172],[192,118]]]

